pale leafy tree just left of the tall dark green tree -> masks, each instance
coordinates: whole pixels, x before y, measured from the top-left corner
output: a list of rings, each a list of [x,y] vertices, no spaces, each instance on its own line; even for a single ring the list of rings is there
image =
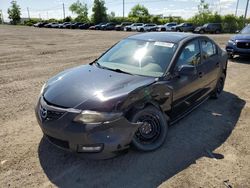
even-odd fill
[[[77,14],[76,21],[77,22],[88,22],[88,8],[86,3],[81,3],[77,0],[75,3],[70,5],[69,10],[73,13]]]

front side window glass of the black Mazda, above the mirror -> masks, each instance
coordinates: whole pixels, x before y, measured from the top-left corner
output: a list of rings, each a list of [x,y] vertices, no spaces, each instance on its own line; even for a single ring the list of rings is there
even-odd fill
[[[182,65],[198,65],[200,63],[200,47],[198,40],[189,42],[182,50],[176,69]]]

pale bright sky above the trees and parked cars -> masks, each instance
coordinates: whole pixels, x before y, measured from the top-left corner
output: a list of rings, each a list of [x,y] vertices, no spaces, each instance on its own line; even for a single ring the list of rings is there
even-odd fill
[[[66,16],[76,17],[69,11],[69,6],[76,0],[17,0],[21,7],[21,17],[28,17],[28,10],[31,18],[63,18],[63,4],[65,6]],[[92,14],[92,6],[94,0],[80,0],[87,4],[89,16]],[[122,16],[123,0],[105,0],[107,12],[115,12],[116,16]],[[164,16],[181,16],[190,18],[197,13],[197,6],[200,0],[124,0],[125,16],[128,15],[130,9],[141,4],[149,9],[150,14],[163,14]],[[0,0],[0,10],[3,12],[4,21],[8,21],[7,10],[10,7],[11,0]],[[217,11],[222,15],[235,14],[237,0],[206,0],[210,4],[212,11]],[[247,0],[239,0],[238,16],[244,15]],[[248,17],[250,17],[250,5],[248,7]]]

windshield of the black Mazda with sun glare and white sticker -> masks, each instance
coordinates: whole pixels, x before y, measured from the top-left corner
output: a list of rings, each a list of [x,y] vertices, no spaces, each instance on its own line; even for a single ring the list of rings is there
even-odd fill
[[[170,42],[125,39],[98,59],[102,67],[130,74],[161,77],[177,45]]]

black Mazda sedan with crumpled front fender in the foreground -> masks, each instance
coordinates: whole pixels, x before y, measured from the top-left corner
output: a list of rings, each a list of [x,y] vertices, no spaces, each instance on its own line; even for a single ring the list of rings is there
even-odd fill
[[[54,145],[91,158],[159,148],[168,127],[224,86],[227,54],[206,36],[130,36],[49,79],[35,109]]]

